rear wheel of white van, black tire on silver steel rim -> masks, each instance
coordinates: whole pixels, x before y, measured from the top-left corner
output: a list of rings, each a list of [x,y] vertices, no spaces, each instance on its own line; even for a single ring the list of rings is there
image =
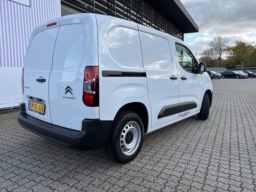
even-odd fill
[[[143,141],[144,126],[139,115],[121,111],[113,121],[106,152],[119,163],[127,163],[139,154]]]

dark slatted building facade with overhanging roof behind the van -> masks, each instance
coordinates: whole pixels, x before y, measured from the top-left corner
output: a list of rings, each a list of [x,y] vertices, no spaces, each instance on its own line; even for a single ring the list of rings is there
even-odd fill
[[[61,15],[97,13],[133,21],[181,40],[199,31],[180,0],[61,0]]]

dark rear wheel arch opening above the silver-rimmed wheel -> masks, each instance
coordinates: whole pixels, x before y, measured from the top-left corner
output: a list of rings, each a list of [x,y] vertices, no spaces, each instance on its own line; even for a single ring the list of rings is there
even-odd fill
[[[147,129],[149,125],[149,114],[146,106],[143,103],[140,103],[140,102],[127,103],[118,110],[117,114],[121,111],[132,111],[134,113],[137,113],[143,122],[144,133],[147,133]]]

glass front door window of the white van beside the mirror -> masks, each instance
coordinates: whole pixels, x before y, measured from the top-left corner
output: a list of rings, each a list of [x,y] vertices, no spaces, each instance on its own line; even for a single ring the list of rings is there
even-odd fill
[[[188,72],[195,72],[197,69],[197,61],[190,51],[177,43],[175,43],[179,65]]]

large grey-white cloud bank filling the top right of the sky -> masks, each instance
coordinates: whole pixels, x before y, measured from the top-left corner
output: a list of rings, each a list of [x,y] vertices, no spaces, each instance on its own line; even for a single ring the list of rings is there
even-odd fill
[[[255,0],[181,0],[205,35],[245,34],[256,31]]]

